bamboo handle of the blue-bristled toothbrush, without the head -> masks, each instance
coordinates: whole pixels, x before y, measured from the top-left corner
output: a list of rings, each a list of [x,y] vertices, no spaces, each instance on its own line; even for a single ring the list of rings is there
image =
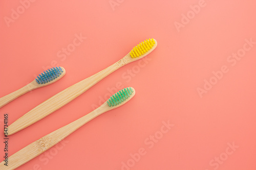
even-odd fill
[[[2,98],[0,98],[0,108],[7,105],[8,103],[10,103],[11,101],[13,101],[14,99],[18,98],[20,95],[23,95],[35,88],[38,88],[35,84],[36,82],[33,81],[29,84],[27,84],[26,86],[6,95],[3,96]]]

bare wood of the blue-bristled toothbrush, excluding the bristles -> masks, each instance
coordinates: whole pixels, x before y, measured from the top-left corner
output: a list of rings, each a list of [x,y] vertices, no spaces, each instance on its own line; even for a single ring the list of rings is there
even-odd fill
[[[2,108],[3,106],[7,105],[8,103],[10,103],[11,101],[13,101],[14,99],[18,98],[19,96],[31,91],[31,90],[34,90],[36,88],[40,88],[40,87],[44,87],[44,86],[48,86],[56,81],[58,81],[59,79],[61,79],[65,74],[66,74],[66,70],[61,67],[63,72],[61,72],[61,75],[59,75],[58,78],[48,82],[48,83],[45,83],[45,84],[38,84],[35,80],[32,81],[31,83],[27,84],[26,86],[10,93],[10,94],[7,94],[5,96],[3,96],[2,98],[0,98],[0,108]]]

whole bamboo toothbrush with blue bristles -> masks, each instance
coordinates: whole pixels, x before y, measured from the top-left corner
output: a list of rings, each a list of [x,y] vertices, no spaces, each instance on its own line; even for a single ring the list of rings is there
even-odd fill
[[[44,71],[37,76],[37,78],[26,86],[0,98],[0,108],[10,103],[14,99],[18,98],[20,95],[23,95],[31,90],[34,90],[39,87],[44,87],[50,85],[66,74],[66,71],[63,67],[53,67]]]

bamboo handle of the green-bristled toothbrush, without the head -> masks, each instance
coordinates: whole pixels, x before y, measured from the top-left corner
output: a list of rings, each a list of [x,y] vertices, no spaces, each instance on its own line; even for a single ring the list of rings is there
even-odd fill
[[[102,107],[103,106],[103,107]],[[55,144],[69,136],[75,130],[83,126],[84,124],[88,123],[93,118],[99,116],[100,114],[108,111],[108,105],[105,103],[101,107],[97,108],[96,110],[92,111],[91,113],[75,120],[74,122],[34,141],[33,143],[27,145],[27,147],[19,150],[15,154],[9,157],[8,166],[4,165],[4,161],[0,164],[1,170],[10,170],[15,169],[26,162],[30,161],[31,159],[37,157],[41,153],[44,153]],[[104,107],[105,106],[105,107]]]

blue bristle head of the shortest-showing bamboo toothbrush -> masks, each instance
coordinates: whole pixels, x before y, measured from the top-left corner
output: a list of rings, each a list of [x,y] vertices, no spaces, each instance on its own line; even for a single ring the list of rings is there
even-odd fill
[[[61,72],[63,72],[61,67],[53,67],[42,72],[35,80],[38,84],[45,84],[59,77]]]

